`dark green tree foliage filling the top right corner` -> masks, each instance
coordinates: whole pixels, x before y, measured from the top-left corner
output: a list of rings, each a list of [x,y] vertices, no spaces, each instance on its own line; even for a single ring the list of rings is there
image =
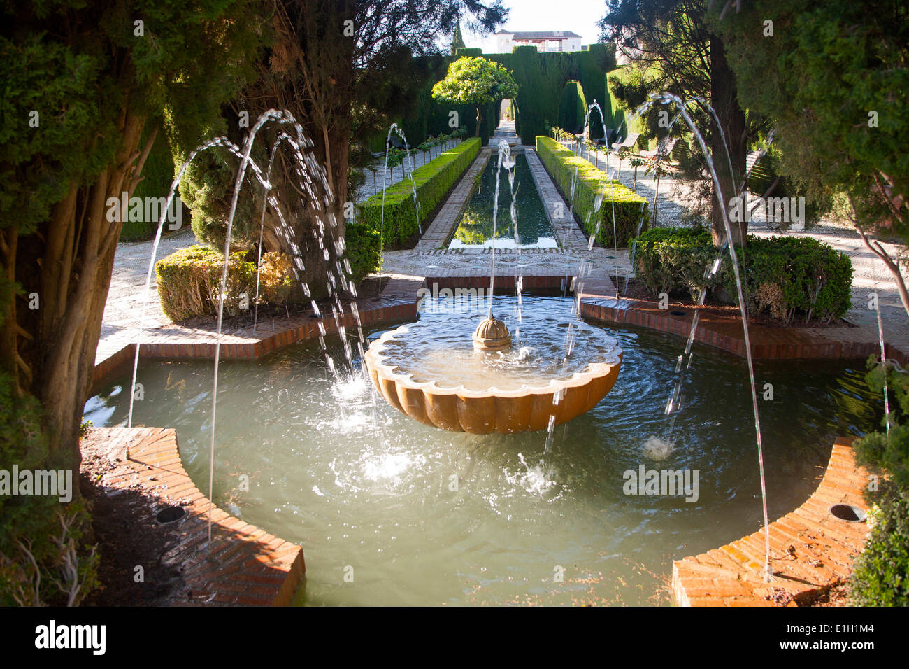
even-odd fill
[[[754,25],[770,16],[766,38]],[[905,3],[758,0],[712,18],[742,104],[773,118],[781,173],[818,202],[843,190],[860,226],[909,237]]]

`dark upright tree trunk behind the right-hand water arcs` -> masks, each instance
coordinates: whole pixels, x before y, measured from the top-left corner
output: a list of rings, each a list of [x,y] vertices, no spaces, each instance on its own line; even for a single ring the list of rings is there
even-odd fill
[[[744,110],[738,104],[738,94],[735,85],[735,76],[723,50],[723,41],[711,35],[710,39],[710,99],[716,116],[723,126],[726,143],[720,136],[715,124],[710,132],[710,153],[714,160],[714,169],[720,182],[721,192],[728,208],[730,200],[740,195],[741,180],[744,178],[745,159],[748,153],[748,142],[745,133]],[[728,151],[728,153],[727,153]],[[730,162],[732,168],[730,171]],[[723,210],[715,191],[711,210],[713,223],[714,244],[719,247],[725,237]],[[745,234],[748,229],[747,220],[740,223],[731,222],[730,229],[735,244],[744,244]]]

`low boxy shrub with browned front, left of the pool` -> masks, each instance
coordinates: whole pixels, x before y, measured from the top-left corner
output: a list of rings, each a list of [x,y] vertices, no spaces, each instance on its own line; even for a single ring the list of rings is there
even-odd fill
[[[194,316],[215,314],[224,256],[213,248],[192,246],[161,258],[155,263],[158,295],[165,316],[177,323]],[[255,262],[246,253],[234,253],[227,266],[225,309],[234,313],[240,294],[246,293],[252,303],[255,296]]]

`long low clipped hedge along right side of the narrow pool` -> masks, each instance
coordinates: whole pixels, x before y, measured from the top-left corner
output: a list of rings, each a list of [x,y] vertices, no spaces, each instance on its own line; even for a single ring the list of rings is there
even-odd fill
[[[566,199],[571,198],[575,173],[574,211],[584,223],[588,235],[596,234],[596,242],[604,247],[615,246],[613,239],[613,204],[615,233],[618,246],[628,246],[637,231],[638,221],[644,215],[642,230],[647,229],[650,210],[647,201],[617,180],[610,180],[603,170],[597,169],[582,157],[577,157],[552,137],[536,137],[536,152],[544,167]],[[599,213],[594,216],[596,200],[602,198]],[[599,230],[597,230],[599,226]]]

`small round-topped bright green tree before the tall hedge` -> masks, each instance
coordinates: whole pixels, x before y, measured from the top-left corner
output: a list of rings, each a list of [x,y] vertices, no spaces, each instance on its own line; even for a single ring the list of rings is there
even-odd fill
[[[445,78],[433,86],[436,100],[476,106],[474,137],[480,137],[481,106],[516,95],[517,84],[511,73],[481,56],[458,58],[448,66]]]

